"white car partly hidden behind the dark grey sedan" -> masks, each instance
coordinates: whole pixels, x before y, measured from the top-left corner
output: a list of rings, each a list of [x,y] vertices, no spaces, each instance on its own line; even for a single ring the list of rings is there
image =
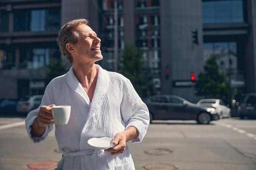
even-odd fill
[[[220,118],[231,117],[231,109],[221,99],[201,99],[198,105],[215,108]]]

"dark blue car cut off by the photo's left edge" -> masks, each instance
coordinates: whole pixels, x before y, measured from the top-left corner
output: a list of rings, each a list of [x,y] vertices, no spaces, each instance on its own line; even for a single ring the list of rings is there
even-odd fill
[[[0,114],[15,113],[16,104],[16,99],[0,99]]]

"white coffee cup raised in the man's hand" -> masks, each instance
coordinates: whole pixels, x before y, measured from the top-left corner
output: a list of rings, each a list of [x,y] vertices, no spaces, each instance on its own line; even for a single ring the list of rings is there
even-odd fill
[[[71,106],[52,106],[55,125],[66,125],[70,118]]]

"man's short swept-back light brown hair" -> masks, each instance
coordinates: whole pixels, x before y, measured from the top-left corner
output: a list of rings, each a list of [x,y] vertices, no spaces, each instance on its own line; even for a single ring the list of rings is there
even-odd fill
[[[73,58],[69,51],[67,51],[66,44],[76,44],[78,42],[79,33],[75,31],[75,28],[81,24],[88,25],[89,22],[86,19],[76,19],[66,23],[61,27],[58,32],[57,44],[60,47],[61,53],[72,63]]]

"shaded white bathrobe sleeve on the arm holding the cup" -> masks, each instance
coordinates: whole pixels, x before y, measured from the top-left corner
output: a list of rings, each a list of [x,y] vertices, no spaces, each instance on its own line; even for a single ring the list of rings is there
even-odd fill
[[[32,140],[32,142],[34,143],[39,143],[39,142],[42,142],[44,141],[44,139],[46,139],[46,137],[48,136],[48,134],[52,131],[52,128],[53,128],[53,124],[52,125],[48,125],[43,133],[42,136],[40,137],[32,137],[31,136],[31,126],[33,124],[33,122],[35,121],[35,119],[37,118],[38,116],[38,111],[40,110],[40,107],[43,106],[43,105],[52,105],[51,103],[51,100],[50,100],[50,96],[49,96],[49,87],[47,86],[45,92],[44,92],[44,96],[42,98],[42,102],[41,102],[41,105],[35,109],[34,111],[30,111],[28,116],[26,117],[26,120],[25,120],[25,123],[26,123],[26,131],[29,135],[29,138]]]

